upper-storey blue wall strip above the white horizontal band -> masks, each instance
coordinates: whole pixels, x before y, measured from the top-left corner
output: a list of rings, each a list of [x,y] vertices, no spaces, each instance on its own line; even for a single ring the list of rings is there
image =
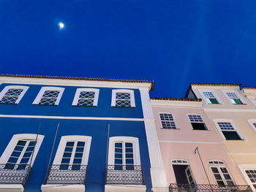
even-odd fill
[[[2,84],[0,90],[7,85]],[[21,84],[19,84],[21,85]],[[8,115],[53,115],[53,116],[75,116],[75,117],[109,117],[109,118],[143,118],[140,91],[135,89],[135,108],[111,107],[112,90],[116,88],[99,88],[99,100],[97,107],[75,107],[72,101],[77,88],[71,86],[56,86],[65,88],[58,106],[33,105],[33,101],[39,93],[42,85],[29,86],[28,91],[18,105],[3,104],[0,111]],[[52,86],[51,86],[52,87]]]

